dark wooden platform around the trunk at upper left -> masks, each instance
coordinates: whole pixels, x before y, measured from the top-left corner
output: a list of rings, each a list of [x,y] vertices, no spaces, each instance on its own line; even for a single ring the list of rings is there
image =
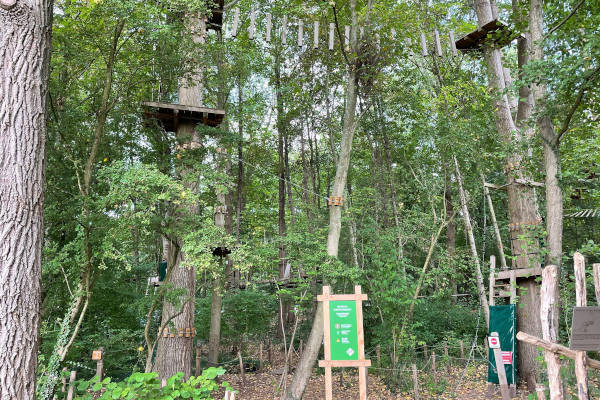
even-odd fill
[[[147,101],[142,103],[142,107],[144,118],[159,121],[160,125],[168,132],[176,132],[181,122],[216,127],[221,124],[225,117],[225,110],[184,104]]]

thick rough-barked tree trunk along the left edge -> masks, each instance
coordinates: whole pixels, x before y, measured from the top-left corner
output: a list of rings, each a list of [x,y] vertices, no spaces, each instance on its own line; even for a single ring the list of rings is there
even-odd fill
[[[33,400],[52,1],[0,0],[0,399]]]

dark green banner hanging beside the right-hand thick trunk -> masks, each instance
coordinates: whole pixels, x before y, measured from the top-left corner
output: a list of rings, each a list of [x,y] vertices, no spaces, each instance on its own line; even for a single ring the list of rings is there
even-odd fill
[[[490,307],[490,330],[498,332],[502,362],[509,385],[517,382],[517,310],[514,304]],[[488,382],[499,383],[494,351],[489,350]]]

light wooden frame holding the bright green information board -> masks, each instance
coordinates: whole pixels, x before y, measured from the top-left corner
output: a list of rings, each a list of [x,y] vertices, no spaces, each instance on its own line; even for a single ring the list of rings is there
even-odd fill
[[[362,293],[360,285],[354,286],[354,294],[331,294],[330,286],[323,286],[323,294],[317,296],[317,301],[323,302],[323,343],[325,346],[325,360],[319,360],[319,367],[325,368],[325,399],[333,400],[332,367],[358,367],[358,385],[360,400],[367,399],[367,367],[371,360],[365,359],[365,335],[363,330],[362,302],[368,296]],[[358,360],[332,360],[331,359],[331,326],[330,326],[330,301],[356,301],[356,333],[358,337]]]

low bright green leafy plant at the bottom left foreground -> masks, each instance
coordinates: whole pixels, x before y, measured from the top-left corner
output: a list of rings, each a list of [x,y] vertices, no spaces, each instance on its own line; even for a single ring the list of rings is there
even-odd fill
[[[144,399],[144,400],[210,400],[212,394],[220,388],[231,390],[227,382],[218,383],[216,378],[225,373],[223,368],[207,368],[202,375],[183,379],[183,372],[178,372],[161,387],[156,372],[136,372],[124,381],[111,382],[110,378],[98,381],[93,378],[89,381],[76,383],[78,395],[75,399]],[[98,393],[102,393],[100,397]]]

